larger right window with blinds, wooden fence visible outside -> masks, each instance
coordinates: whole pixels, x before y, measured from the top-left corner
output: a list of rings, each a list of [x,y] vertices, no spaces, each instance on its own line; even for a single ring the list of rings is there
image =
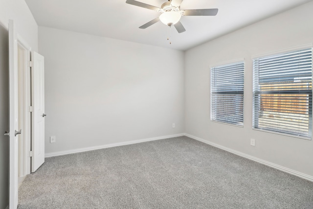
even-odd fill
[[[312,48],[253,60],[253,128],[312,137]]]

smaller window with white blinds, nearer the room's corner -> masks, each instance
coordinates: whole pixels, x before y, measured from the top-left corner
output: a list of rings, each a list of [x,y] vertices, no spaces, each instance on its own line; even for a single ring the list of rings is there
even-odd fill
[[[211,120],[244,125],[244,62],[211,68]]]

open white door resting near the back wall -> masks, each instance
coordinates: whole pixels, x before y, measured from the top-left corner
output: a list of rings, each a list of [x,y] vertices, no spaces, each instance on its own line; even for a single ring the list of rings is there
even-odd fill
[[[45,162],[45,60],[32,52],[32,166],[35,172]]]

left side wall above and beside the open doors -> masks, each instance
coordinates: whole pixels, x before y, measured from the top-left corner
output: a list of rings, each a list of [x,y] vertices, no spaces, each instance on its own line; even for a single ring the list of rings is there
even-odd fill
[[[38,49],[38,26],[24,0],[0,0],[0,208],[8,205],[9,130],[8,22],[15,21],[17,33],[32,49]]]

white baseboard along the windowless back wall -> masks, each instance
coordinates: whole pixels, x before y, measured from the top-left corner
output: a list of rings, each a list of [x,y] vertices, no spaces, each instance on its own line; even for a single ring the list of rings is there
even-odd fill
[[[72,150],[66,150],[66,151],[61,151],[61,152],[51,152],[51,153],[46,153],[45,158],[60,156],[60,155],[68,155],[68,154],[73,154],[73,153],[78,153],[78,152],[87,152],[87,151],[104,149],[104,148],[109,148],[109,147],[114,147],[114,146],[135,144],[135,143],[140,143],[140,142],[145,142],[145,141],[154,141],[154,140],[159,140],[159,139],[181,137],[181,136],[185,136],[185,134],[174,134],[174,135],[167,135],[167,136],[162,136],[162,137],[154,137],[154,138],[148,138],[148,139],[139,139],[139,140],[125,141],[125,142],[119,142],[119,143],[113,143],[113,144],[105,144],[105,145],[100,145],[100,146],[92,146],[92,147],[86,147],[86,148],[80,148],[80,149],[72,149]]]

